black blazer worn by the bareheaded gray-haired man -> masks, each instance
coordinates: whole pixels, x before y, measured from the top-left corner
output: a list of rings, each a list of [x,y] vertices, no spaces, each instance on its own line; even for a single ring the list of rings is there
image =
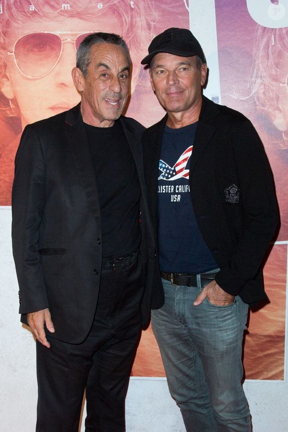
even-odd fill
[[[101,218],[80,106],[26,126],[15,158],[12,244],[20,313],[50,308],[55,333],[71,343],[87,335],[101,274]],[[144,127],[121,117],[142,190],[141,259],[146,287],[142,324],[148,325],[155,262],[144,185]]]

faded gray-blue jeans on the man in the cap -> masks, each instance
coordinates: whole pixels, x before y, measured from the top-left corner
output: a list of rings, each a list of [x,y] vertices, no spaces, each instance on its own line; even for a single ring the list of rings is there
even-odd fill
[[[162,282],[165,303],[152,311],[152,329],[186,430],[251,431],[241,385],[248,305],[236,297],[227,306],[215,306],[207,298],[193,306],[201,287]]]

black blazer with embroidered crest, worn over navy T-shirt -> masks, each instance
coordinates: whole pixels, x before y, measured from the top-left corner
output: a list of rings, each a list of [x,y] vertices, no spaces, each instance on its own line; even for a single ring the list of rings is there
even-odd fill
[[[144,175],[156,238],[158,164],[166,121],[167,115],[143,136]],[[251,306],[267,299],[261,261],[279,220],[270,165],[251,122],[205,97],[189,185],[200,231],[220,267],[216,282]],[[159,293],[159,271],[154,276]]]

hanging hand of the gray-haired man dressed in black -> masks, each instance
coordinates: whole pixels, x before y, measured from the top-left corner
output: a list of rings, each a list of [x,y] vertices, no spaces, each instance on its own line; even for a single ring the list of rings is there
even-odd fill
[[[44,331],[44,324],[46,324],[47,330],[51,333],[55,332],[49,309],[42,309],[41,311],[27,314],[27,321],[36,339],[42,343],[42,345],[50,348],[50,343],[48,342]]]

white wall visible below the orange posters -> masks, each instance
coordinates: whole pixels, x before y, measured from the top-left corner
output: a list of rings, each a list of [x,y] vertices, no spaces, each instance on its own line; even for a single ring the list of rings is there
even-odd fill
[[[19,322],[10,220],[11,210],[0,208],[0,432],[31,432],[35,430],[37,400],[35,344]],[[244,388],[253,432],[288,431],[287,380],[250,381]],[[164,379],[131,378],[126,412],[127,432],[185,431]]]

